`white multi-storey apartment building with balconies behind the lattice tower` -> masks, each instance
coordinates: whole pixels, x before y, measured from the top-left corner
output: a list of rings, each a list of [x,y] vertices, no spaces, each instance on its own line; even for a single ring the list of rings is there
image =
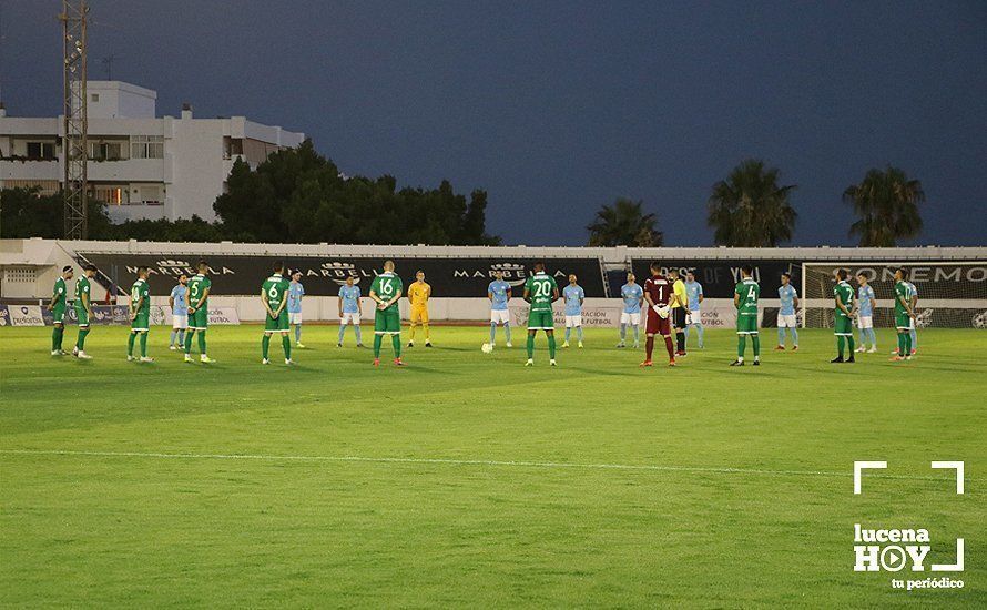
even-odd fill
[[[213,202],[237,159],[256,167],[305,134],[244,116],[156,116],[157,93],[121,81],[88,81],[90,196],[109,204],[113,222],[215,218]],[[0,187],[59,190],[63,119],[8,116],[0,109]]]

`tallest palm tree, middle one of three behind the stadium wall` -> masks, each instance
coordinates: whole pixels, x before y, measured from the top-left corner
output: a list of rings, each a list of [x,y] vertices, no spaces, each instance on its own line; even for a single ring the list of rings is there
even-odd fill
[[[713,185],[706,224],[718,245],[774,247],[792,238],[797,214],[788,195],[796,186],[779,186],[777,177],[777,169],[749,159]]]

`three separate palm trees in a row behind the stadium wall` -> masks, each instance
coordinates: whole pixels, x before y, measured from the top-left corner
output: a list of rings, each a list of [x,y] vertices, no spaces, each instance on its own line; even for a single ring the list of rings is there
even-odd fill
[[[794,184],[780,184],[779,170],[749,159],[713,185],[706,202],[706,224],[716,245],[774,247],[792,240],[798,214],[792,205]],[[922,183],[888,166],[869,170],[858,184],[843,192],[856,221],[851,237],[863,247],[894,247],[922,231]],[[591,246],[660,246],[658,217],[644,212],[643,201],[618,199],[603,205],[587,226]]]

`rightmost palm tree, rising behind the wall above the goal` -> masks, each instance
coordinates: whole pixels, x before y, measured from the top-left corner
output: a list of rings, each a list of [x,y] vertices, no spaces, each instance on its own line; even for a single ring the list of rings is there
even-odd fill
[[[918,204],[925,202],[925,191],[897,167],[868,171],[863,182],[846,187],[843,201],[853,204],[858,217],[849,235],[859,235],[861,246],[894,247],[922,231]]]

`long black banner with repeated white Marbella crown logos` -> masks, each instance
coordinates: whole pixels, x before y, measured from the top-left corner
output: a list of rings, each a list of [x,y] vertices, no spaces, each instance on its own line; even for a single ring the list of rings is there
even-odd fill
[[[155,254],[98,254],[79,253],[80,263],[92,263],[99,270],[98,279],[114,284],[121,294],[130,291],[136,279],[139,266],[150,270],[151,294],[167,295],[180,275],[192,275],[199,262],[196,255]],[[305,294],[336,296],[346,277],[353,276],[364,292],[374,276],[381,271],[384,257],[367,256],[240,256],[208,255],[213,295],[254,295],[272,272],[272,264],[284,261],[292,270],[302,272]],[[415,272],[425,272],[425,281],[431,285],[435,297],[482,297],[494,279],[494,273],[503,272],[503,279],[515,287],[515,296],[521,295],[525,279],[533,273],[533,265],[541,261],[546,270],[556,276],[559,287],[568,284],[567,276],[574,273],[588,297],[606,296],[603,274],[599,258],[424,258],[394,257],[395,272],[405,285],[415,281]]]

